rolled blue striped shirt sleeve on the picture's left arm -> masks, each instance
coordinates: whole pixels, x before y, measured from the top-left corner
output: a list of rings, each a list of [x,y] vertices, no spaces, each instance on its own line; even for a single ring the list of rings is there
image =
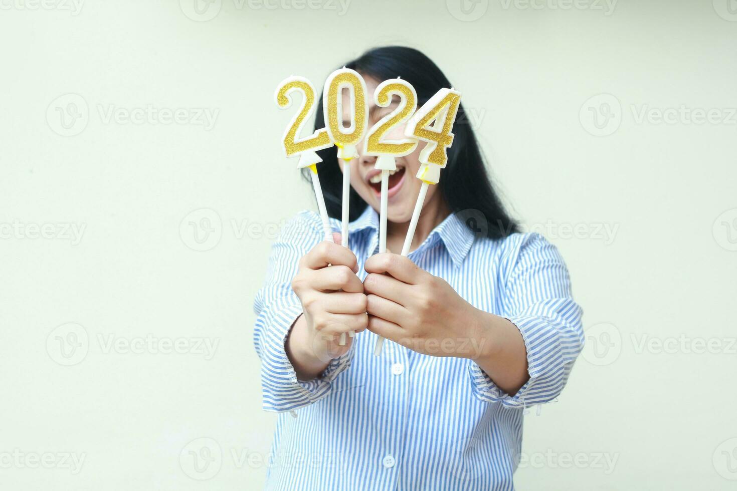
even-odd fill
[[[314,403],[330,392],[330,382],[349,366],[353,347],[332,360],[320,378],[298,381],[287,358],[287,333],[302,314],[302,305],[292,290],[300,258],[324,239],[320,218],[304,211],[287,222],[271,247],[266,279],[254,301],[256,327],[254,345],[261,359],[263,408],[291,411]]]

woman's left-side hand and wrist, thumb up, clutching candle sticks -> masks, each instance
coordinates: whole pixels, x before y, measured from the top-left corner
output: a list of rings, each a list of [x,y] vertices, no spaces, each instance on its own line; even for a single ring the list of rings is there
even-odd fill
[[[333,358],[349,350],[353,338],[346,336],[340,346],[341,334],[360,333],[368,324],[356,256],[340,246],[339,233],[333,233],[333,241],[312,247],[292,280],[304,314],[294,323],[285,348],[301,380],[318,377]]]

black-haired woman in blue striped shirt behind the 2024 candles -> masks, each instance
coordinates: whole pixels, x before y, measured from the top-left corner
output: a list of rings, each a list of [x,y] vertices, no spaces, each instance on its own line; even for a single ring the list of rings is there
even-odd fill
[[[419,105],[451,87],[414,49],[373,49],[346,66],[369,94],[383,80],[408,80]],[[395,107],[368,99],[369,126]],[[362,146],[352,163],[349,248],[338,233],[334,244],[324,241],[312,212],[273,244],[254,333],[264,408],[280,413],[268,489],[513,489],[523,409],[560,394],[583,344],[581,308],[556,248],[518,233],[504,211],[463,105],[453,133],[408,258],[377,254],[380,183]],[[389,181],[393,252],[421,186],[423,147],[397,159]],[[321,156],[340,230],[343,162],[335,147]],[[349,331],[355,336],[340,346]],[[374,356],[379,336],[388,341]]]

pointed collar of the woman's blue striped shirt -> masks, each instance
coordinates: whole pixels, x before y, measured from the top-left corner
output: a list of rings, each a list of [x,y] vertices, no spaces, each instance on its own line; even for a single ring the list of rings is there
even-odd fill
[[[374,208],[371,208],[371,206],[366,206],[366,210],[357,219],[349,223],[348,230],[350,233],[368,230],[373,231],[378,236],[379,213]],[[445,245],[450,258],[453,259],[453,264],[455,266],[461,266],[473,244],[474,233],[467,227],[463,219],[459,218],[455,213],[450,213],[440,225],[430,232],[430,235],[417,248],[417,251],[427,249],[427,247],[430,247],[438,239]],[[414,255],[415,252],[410,252],[410,255]]]

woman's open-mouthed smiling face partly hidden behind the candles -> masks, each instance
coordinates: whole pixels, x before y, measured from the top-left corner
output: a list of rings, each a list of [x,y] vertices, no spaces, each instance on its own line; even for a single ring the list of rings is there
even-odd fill
[[[364,77],[366,79],[366,88],[368,89],[368,128],[370,129],[377,121],[382,119],[388,113],[391,113],[399,105],[399,98],[394,96],[391,105],[388,107],[379,107],[374,104],[374,91],[380,82],[372,77]],[[347,127],[351,121],[351,114],[347,91],[343,91],[343,121]],[[386,133],[384,139],[398,140],[405,138],[405,124],[400,124]],[[405,157],[397,157],[397,171],[389,177],[388,191],[388,211],[387,219],[389,222],[405,223],[412,218],[412,211],[419,194],[419,188],[422,181],[417,179],[415,175],[419,169],[419,152],[425,146],[424,142],[420,142],[417,148],[410,155]],[[366,138],[363,138],[357,144],[358,158],[351,160],[351,186],[374,210],[379,211],[381,199],[381,171],[374,169],[376,157],[369,157],[363,154],[366,147]],[[343,170],[343,160],[338,159],[340,169]],[[427,197],[425,202],[433,199],[437,186],[430,186],[427,189]]]

